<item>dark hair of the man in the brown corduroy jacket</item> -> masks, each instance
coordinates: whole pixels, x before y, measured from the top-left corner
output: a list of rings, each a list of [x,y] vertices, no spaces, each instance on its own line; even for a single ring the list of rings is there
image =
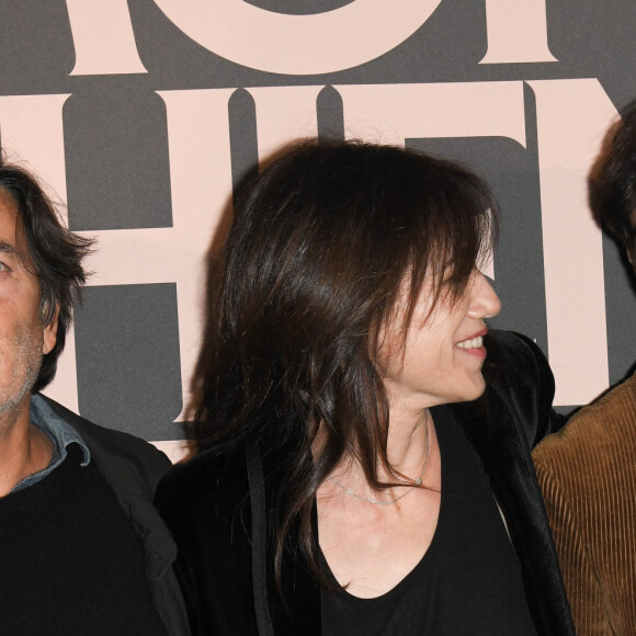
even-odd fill
[[[590,181],[594,216],[634,250],[629,216],[636,211],[636,101],[611,130],[603,156]]]

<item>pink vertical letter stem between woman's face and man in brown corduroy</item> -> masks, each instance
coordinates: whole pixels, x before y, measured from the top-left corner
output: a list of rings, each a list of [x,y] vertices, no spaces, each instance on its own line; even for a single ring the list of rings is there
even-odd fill
[[[616,110],[595,79],[527,82],[536,95],[549,362],[555,404],[609,385],[601,231],[587,177]]]

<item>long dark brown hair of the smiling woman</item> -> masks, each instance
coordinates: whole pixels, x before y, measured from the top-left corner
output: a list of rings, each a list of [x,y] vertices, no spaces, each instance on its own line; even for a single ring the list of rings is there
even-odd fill
[[[378,463],[396,475],[375,354],[404,282],[406,337],[424,281],[431,311],[459,298],[496,219],[488,186],[464,168],[360,141],[295,145],[237,195],[208,300],[197,439],[293,448],[270,502],[280,591],[289,545],[325,581],[311,506],[338,463],[355,457],[376,488],[389,487]]]

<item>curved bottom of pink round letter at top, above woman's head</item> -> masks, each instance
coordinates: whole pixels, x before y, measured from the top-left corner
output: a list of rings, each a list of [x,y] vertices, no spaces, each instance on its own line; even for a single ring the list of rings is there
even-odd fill
[[[359,66],[412,35],[442,0],[354,0],[314,15],[286,15],[242,0],[155,0],[189,37],[258,70],[285,75]]]

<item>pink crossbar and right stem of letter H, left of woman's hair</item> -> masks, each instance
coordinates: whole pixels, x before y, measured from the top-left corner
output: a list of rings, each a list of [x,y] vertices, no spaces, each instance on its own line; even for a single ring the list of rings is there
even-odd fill
[[[161,91],[168,118],[171,228],[98,232],[93,285],[177,282],[183,405],[200,345],[204,262],[231,201],[228,100],[234,89]],[[183,419],[182,412],[179,420]]]

